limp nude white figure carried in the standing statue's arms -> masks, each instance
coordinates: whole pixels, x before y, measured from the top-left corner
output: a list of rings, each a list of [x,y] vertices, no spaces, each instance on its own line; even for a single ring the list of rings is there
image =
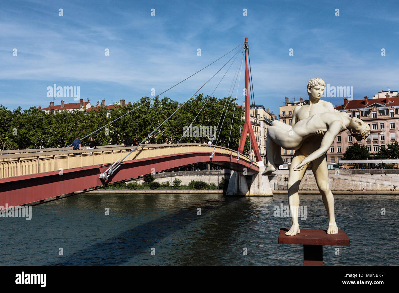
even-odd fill
[[[333,144],[335,137],[346,129],[349,129],[356,140],[363,140],[370,133],[370,127],[367,124],[359,118],[349,117],[346,112],[315,114],[296,122],[292,127],[278,120],[273,121],[272,126],[267,129],[267,167],[262,175],[270,175],[271,172],[276,171],[277,166],[283,164],[280,155],[281,147],[299,149],[304,139],[316,132],[324,132],[320,147],[293,167],[293,170],[300,171],[307,163],[324,155]]]

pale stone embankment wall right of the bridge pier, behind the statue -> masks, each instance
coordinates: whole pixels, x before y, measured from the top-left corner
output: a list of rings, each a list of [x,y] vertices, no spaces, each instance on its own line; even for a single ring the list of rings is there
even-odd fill
[[[269,176],[272,189],[287,186],[288,170],[277,170],[276,174]],[[275,183],[278,185],[275,185]],[[328,183],[331,190],[380,190],[389,191],[399,186],[399,170],[329,170]],[[306,170],[299,186],[300,190],[317,190],[316,180],[312,170]],[[399,189],[398,189],[399,190]]]

